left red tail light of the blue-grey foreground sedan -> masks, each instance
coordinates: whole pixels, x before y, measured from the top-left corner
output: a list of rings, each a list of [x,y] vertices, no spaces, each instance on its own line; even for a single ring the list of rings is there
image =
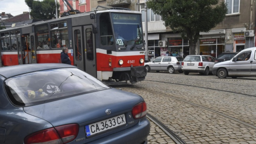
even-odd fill
[[[49,128],[28,135],[24,139],[24,144],[66,144],[75,140],[78,131],[78,124],[62,125],[55,127],[55,129]]]

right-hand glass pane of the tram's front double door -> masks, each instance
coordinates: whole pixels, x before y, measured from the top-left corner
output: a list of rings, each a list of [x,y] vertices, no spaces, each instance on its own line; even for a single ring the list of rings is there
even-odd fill
[[[87,60],[93,60],[92,28],[86,29],[86,56]]]

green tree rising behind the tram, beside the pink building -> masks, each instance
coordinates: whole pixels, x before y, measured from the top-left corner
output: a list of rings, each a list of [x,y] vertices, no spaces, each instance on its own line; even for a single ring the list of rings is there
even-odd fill
[[[25,3],[30,8],[30,15],[33,19],[52,19],[55,18],[56,14],[56,4],[55,0],[43,0],[43,1],[35,1],[35,0],[25,0]],[[57,3],[58,9],[58,17],[60,15],[60,4]]]

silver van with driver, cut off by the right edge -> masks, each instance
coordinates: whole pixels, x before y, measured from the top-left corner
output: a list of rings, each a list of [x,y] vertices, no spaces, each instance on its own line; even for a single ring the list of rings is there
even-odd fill
[[[212,74],[219,78],[256,76],[256,47],[242,50],[231,60],[216,63]]]

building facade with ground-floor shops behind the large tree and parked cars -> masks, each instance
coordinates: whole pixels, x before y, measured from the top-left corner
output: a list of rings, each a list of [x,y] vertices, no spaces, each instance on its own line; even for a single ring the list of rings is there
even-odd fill
[[[208,33],[200,33],[196,53],[217,57],[222,52],[240,52],[255,45],[255,1],[220,0],[228,5],[226,18]],[[145,30],[145,2],[139,0]],[[179,56],[189,55],[188,40],[164,26],[161,16],[147,9],[148,60],[163,56],[167,50]],[[144,31],[145,33],[145,31]],[[160,45],[159,45],[160,44]]]

